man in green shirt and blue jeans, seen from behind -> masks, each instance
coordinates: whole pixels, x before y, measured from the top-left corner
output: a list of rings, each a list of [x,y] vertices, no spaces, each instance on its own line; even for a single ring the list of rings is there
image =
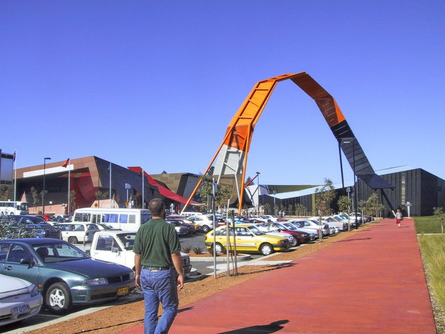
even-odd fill
[[[140,226],[133,246],[136,285],[144,293],[144,334],[161,334],[168,333],[177,315],[184,269],[175,226],[165,221],[163,200],[152,199],[148,208],[152,219]],[[163,313],[158,319],[159,302]]]

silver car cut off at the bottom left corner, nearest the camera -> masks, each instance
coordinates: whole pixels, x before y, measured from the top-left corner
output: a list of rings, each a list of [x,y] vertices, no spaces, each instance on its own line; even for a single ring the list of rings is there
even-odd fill
[[[38,315],[42,295],[32,283],[0,274],[0,326]]]

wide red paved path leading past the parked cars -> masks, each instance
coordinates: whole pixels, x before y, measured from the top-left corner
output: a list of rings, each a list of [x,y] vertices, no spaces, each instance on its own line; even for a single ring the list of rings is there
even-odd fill
[[[412,219],[370,226],[184,306],[170,334],[436,333]]]

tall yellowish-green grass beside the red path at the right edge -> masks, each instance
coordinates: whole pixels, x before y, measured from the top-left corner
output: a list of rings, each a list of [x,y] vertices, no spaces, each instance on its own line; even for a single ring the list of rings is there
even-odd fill
[[[445,235],[421,235],[419,245],[428,283],[442,310],[445,310]]]

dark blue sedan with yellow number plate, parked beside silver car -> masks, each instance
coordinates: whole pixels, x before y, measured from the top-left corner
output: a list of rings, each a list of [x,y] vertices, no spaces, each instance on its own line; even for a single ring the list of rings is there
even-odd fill
[[[136,286],[131,269],[92,260],[60,239],[0,240],[0,273],[35,284],[46,307],[56,314],[72,305],[119,299]]]

